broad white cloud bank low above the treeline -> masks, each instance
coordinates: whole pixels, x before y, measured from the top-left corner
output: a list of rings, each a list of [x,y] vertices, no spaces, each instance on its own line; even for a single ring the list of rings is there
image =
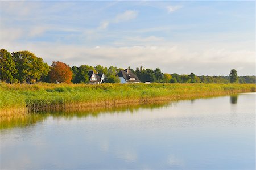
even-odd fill
[[[228,75],[231,69],[237,69],[238,75],[252,75],[255,70],[255,52],[243,49],[240,45],[232,45],[237,49],[223,44],[216,46],[204,44],[204,42],[193,45],[183,43],[86,48],[81,45],[14,42],[13,44],[3,43],[2,48],[10,52],[30,50],[42,57],[49,65],[52,61],[63,61],[71,66],[100,64],[123,68],[131,66],[134,69],[145,66],[151,69],[159,67],[164,73],[189,74],[193,72],[196,75]]]

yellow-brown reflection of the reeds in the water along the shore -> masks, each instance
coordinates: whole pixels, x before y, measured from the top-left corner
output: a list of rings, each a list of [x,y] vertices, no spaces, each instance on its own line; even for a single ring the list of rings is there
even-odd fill
[[[218,95],[222,96],[222,95]],[[160,99],[155,98],[155,100],[143,100],[143,101],[129,101],[126,103],[101,103],[94,104],[92,103],[81,103],[81,104],[70,104],[65,105],[65,107],[61,108],[48,108],[47,110],[40,112],[18,112],[19,114],[15,114],[15,112],[2,114],[0,116],[0,129],[3,128],[13,128],[13,127],[22,127],[28,126],[29,124],[35,124],[37,122],[45,120],[48,116],[54,117],[64,117],[64,118],[82,118],[82,117],[98,117],[100,114],[113,114],[113,113],[123,113],[129,111],[130,113],[134,113],[138,111],[138,109],[155,109],[161,107],[170,107],[170,105],[176,104],[179,102],[179,99],[183,100],[195,100],[195,99],[207,99],[211,97],[216,97],[216,95],[208,95],[201,97],[178,97],[176,100],[170,98]],[[164,100],[163,100],[164,99]],[[231,100],[231,98],[230,98]],[[22,114],[21,114],[22,113]]]

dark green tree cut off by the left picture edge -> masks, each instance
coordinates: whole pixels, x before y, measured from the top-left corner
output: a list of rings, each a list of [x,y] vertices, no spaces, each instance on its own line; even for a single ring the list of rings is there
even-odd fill
[[[14,75],[17,73],[15,62],[11,54],[5,49],[0,50],[0,81],[13,83]]]

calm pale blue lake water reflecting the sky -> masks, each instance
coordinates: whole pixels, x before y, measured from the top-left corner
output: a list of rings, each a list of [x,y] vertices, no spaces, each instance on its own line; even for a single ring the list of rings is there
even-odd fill
[[[0,169],[254,169],[255,96],[3,122]]]

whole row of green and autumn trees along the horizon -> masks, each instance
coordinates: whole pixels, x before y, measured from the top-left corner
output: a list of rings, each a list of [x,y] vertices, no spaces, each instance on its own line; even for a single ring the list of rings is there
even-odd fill
[[[123,68],[114,66],[95,67],[81,65],[80,67],[70,67],[63,62],[53,61],[48,66],[43,59],[28,51],[10,53],[5,49],[0,50],[0,81],[6,83],[89,83],[88,73],[90,70],[96,73],[104,73],[106,83],[119,83],[116,74]],[[194,73],[189,75],[162,73],[159,68],[155,70],[145,69],[143,66],[135,70],[129,67],[141,82],[155,83],[256,83],[255,76],[237,76],[236,70],[231,70],[229,76],[196,76]]]

